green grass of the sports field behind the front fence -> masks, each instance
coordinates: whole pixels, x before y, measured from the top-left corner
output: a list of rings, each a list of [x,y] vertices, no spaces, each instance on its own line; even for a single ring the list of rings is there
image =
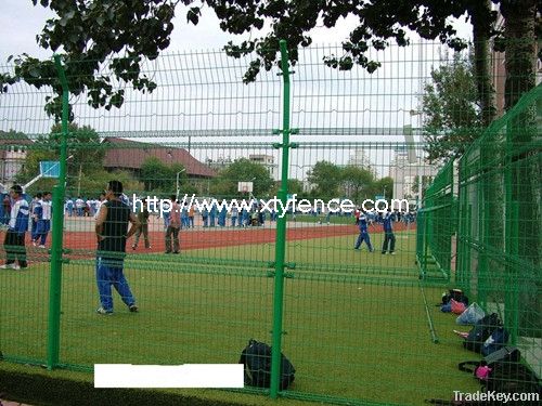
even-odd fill
[[[356,235],[289,241],[283,352],[295,365],[292,393],[420,405],[478,389],[456,364],[476,358],[453,335],[454,317],[434,303],[431,341],[414,264],[414,233],[397,233],[398,254],[354,251]],[[372,236],[380,246],[382,236]],[[236,363],[247,340],[270,342],[274,245],[131,254],[126,275],[141,307],[115,293],[115,314],[94,314],[94,261],[64,266],[61,363]],[[236,261],[233,261],[236,259]],[[49,264],[0,274],[0,348],[9,358],[46,358]]]

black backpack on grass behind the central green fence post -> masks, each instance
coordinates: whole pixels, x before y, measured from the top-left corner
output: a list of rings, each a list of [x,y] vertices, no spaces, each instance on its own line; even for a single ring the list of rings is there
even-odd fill
[[[271,346],[251,339],[241,353],[238,363],[245,366],[245,384],[257,388],[271,387]],[[294,382],[295,372],[292,363],[281,353],[281,391]]]

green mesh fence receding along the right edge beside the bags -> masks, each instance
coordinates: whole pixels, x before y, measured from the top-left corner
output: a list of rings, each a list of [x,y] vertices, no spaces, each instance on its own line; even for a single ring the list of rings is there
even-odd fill
[[[501,315],[540,374],[542,88],[524,95],[460,160],[459,277]]]

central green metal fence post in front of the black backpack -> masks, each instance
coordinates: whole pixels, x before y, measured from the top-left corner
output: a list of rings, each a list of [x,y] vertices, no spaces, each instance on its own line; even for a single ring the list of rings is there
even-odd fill
[[[281,188],[279,199],[286,205],[288,193],[288,165],[289,165],[289,71],[288,71],[288,52],[286,41],[280,41],[282,77],[284,82],[283,94],[283,128],[282,128],[282,170]],[[284,266],[286,254],[286,215],[279,217],[276,221],[276,243],[275,243],[275,275],[274,275],[274,296],[273,296],[273,336],[271,353],[271,388],[272,398],[279,394],[281,382],[281,341],[282,341],[282,313],[284,300]]]

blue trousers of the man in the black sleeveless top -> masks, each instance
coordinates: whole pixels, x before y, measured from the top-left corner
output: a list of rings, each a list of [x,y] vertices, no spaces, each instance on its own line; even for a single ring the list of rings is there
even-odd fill
[[[122,302],[125,302],[127,306],[136,304],[136,299],[133,299],[130,286],[128,286],[128,280],[126,280],[122,273],[122,262],[115,260],[115,266],[112,266],[111,262],[112,260],[101,257],[96,258],[98,291],[100,293],[102,307],[106,312],[113,312],[112,285],[115,287],[118,294],[120,294]]]

